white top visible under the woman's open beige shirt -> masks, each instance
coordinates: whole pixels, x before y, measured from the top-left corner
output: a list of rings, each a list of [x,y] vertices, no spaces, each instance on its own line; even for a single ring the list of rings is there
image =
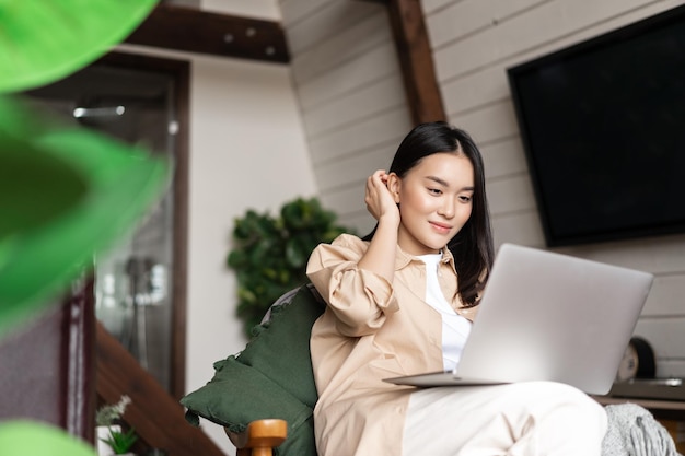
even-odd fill
[[[442,317],[442,363],[445,371],[454,371],[471,332],[471,321],[452,308],[440,290],[438,266],[442,254],[420,255],[418,258],[426,264],[426,303]]]

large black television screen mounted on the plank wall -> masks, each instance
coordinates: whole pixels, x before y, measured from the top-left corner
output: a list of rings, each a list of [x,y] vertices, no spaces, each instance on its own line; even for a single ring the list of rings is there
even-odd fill
[[[685,7],[507,74],[548,246],[685,232]]]

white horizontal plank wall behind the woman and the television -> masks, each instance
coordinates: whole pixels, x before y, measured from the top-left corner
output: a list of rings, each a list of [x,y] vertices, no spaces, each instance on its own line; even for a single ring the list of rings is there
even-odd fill
[[[422,0],[449,120],[486,160],[496,243],[544,247],[506,69],[682,4],[682,0]],[[360,231],[371,226],[363,179],[386,167],[410,128],[384,7],[280,0],[292,73],[322,200]],[[653,272],[636,335],[658,375],[685,376],[685,236],[561,252]]]

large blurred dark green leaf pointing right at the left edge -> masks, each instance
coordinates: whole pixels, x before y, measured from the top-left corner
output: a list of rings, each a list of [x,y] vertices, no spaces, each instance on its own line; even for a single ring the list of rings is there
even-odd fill
[[[171,166],[62,125],[21,98],[0,96],[0,118],[2,337],[37,316],[93,254],[132,229],[166,188]],[[45,166],[53,165],[48,178]]]

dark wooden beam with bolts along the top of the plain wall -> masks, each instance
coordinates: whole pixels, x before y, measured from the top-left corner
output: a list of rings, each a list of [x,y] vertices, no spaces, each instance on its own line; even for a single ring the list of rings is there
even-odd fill
[[[278,22],[159,4],[125,43],[189,52],[287,63]]]

